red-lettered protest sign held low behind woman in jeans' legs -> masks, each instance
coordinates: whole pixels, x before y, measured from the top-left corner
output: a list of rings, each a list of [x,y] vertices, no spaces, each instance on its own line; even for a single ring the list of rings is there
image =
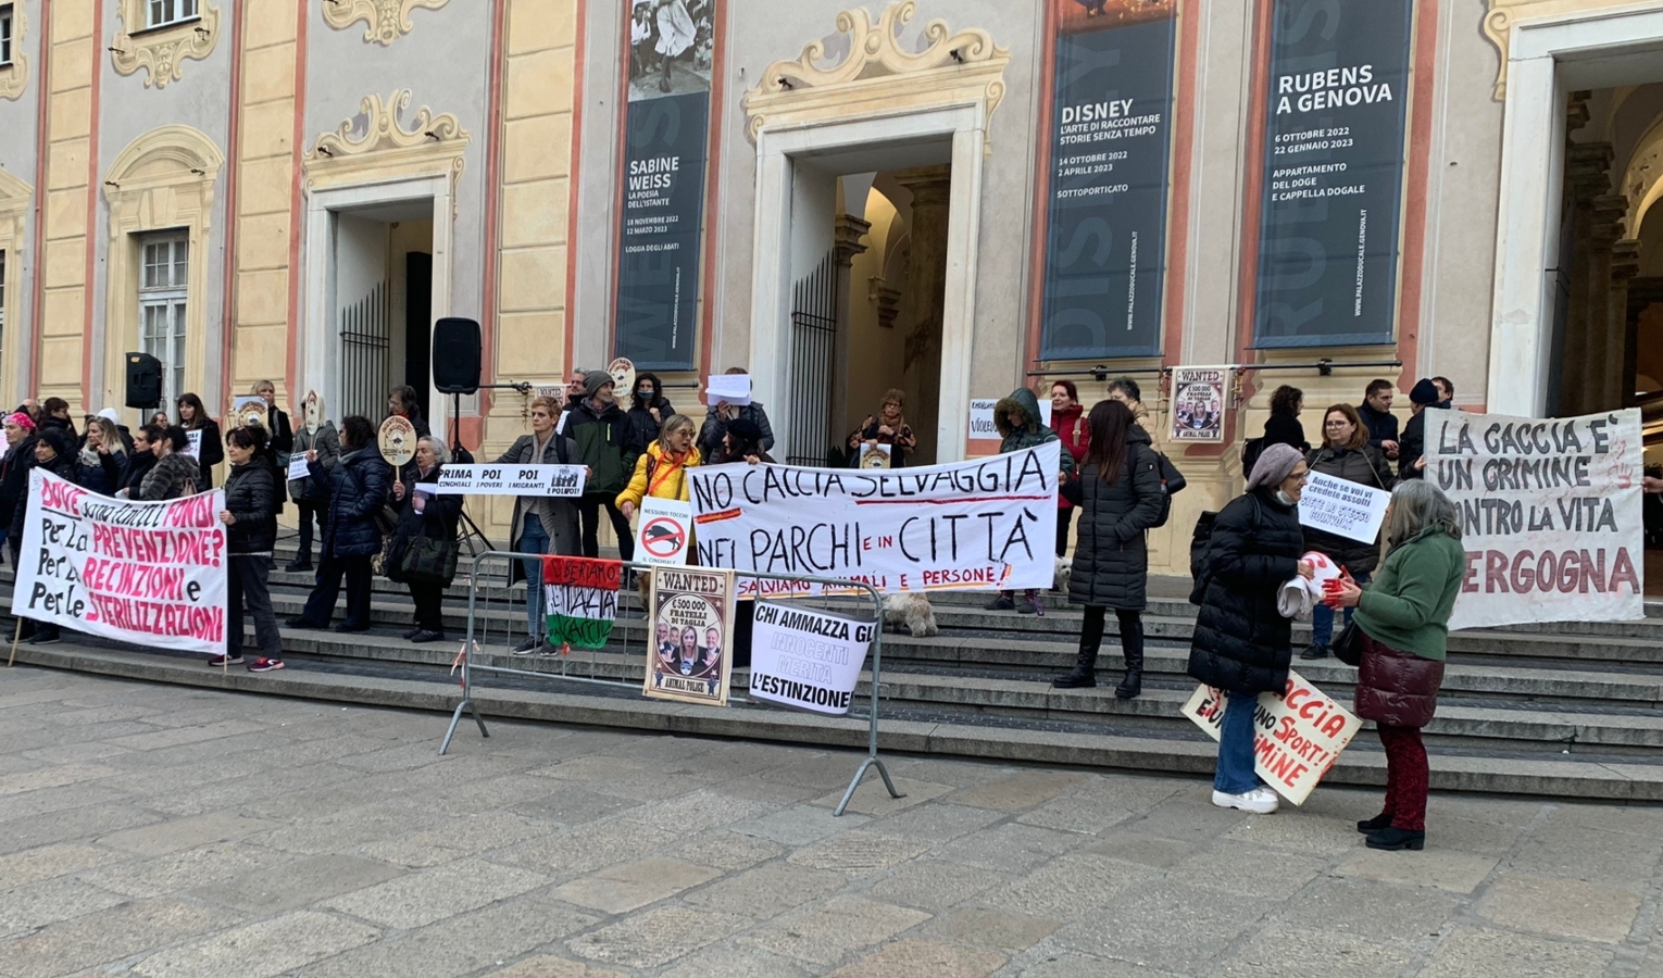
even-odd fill
[[[1217,740],[1227,705],[1222,692],[1201,685],[1184,704],[1184,715]],[[1282,695],[1259,694],[1254,772],[1276,793],[1304,805],[1360,727],[1362,720],[1350,710],[1289,670]]]

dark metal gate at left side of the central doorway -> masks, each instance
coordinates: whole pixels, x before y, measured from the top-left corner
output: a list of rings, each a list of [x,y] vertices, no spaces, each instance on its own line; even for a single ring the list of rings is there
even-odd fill
[[[836,358],[836,259],[832,251],[792,289],[790,432],[785,464],[825,466],[832,441]]]

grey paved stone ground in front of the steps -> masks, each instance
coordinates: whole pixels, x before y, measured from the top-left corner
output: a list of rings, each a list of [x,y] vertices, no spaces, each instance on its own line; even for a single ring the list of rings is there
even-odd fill
[[[1663,978],[1663,808],[442,730],[0,669],[0,976]]]

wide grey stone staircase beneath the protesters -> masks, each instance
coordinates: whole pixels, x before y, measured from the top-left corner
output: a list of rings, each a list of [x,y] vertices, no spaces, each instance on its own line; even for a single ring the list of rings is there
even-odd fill
[[[286,557],[279,557],[279,567]],[[815,717],[760,704],[717,710],[644,699],[645,630],[632,594],[620,602],[619,625],[607,649],[574,650],[567,657],[509,655],[526,627],[524,587],[504,587],[504,569],[501,562],[484,567],[476,662],[537,670],[547,677],[476,674],[477,702],[487,714],[865,745],[861,719]],[[5,582],[0,590],[8,590],[10,569],[0,572],[0,582]],[[279,620],[299,612],[309,587],[311,574],[273,574]],[[1196,610],[1181,597],[1186,592],[1187,580],[1151,582],[1144,694],[1134,700],[1114,697],[1119,645],[1113,634],[1104,639],[1099,659],[1099,689],[1051,689],[1049,680],[1073,664],[1081,624],[1079,609],[1058,595],[1048,595],[1043,617],[983,610],[984,594],[933,595],[938,635],[915,639],[890,630],[883,637],[883,748],[1211,772],[1214,742],[1179,714],[1196,687],[1184,675]],[[1648,612],[1646,622],[1635,624],[1533,625],[1452,635],[1438,715],[1427,729],[1434,787],[1663,802],[1663,604],[1650,605]],[[467,587],[461,580],[446,595],[444,620],[451,640],[429,645],[401,640],[399,635],[412,627],[409,595],[378,579],[371,632],[284,629],[289,669],[278,674],[223,674],[205,669],[200,657],[136,654],[93,639],[42,649],[22,645],[18,660],[205,687],[451,710],[459,697],[449,670],[467,624]],[[1295,647],[1309,640],[1307,624],[1295,622],[1294,640]],[[1295,669],[1349,700],[1354,669],[1332,659],[1295,660]],[[865,680],[870,674],[856,697],[861,710],[866,702],[861,697],[870,695]],[[733,695],[743,697],[747,684],[747,670],[735,669]],[[437,743],[442,722],[436,719],[434,724]],[[476,737],[476,732],[462,727],[459,737]],[[1384,783],[1384,772],[1379,742],[1365,729],[1329,778]]]

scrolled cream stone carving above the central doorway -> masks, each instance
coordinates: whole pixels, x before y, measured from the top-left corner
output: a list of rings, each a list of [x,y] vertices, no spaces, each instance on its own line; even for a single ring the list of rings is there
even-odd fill
[[[925,25],[925,50],[906,52],[898,33],[915,12],[915,0],[901,0],[890,3],[873,23],[865,7],[845,10],[836,17],[838,32],[848,35],[848,57],[840,65],[818,67],[827,57],[818,40],[803,45],[797,60],[768,65],[762,82],[745,93],[750,138],[755,141],[772,121],[971,98],[983,100],[991,118],[1004,100],[1004,65],[1011,53],[993,43],[986,30],[953,32],[945,20]]]

